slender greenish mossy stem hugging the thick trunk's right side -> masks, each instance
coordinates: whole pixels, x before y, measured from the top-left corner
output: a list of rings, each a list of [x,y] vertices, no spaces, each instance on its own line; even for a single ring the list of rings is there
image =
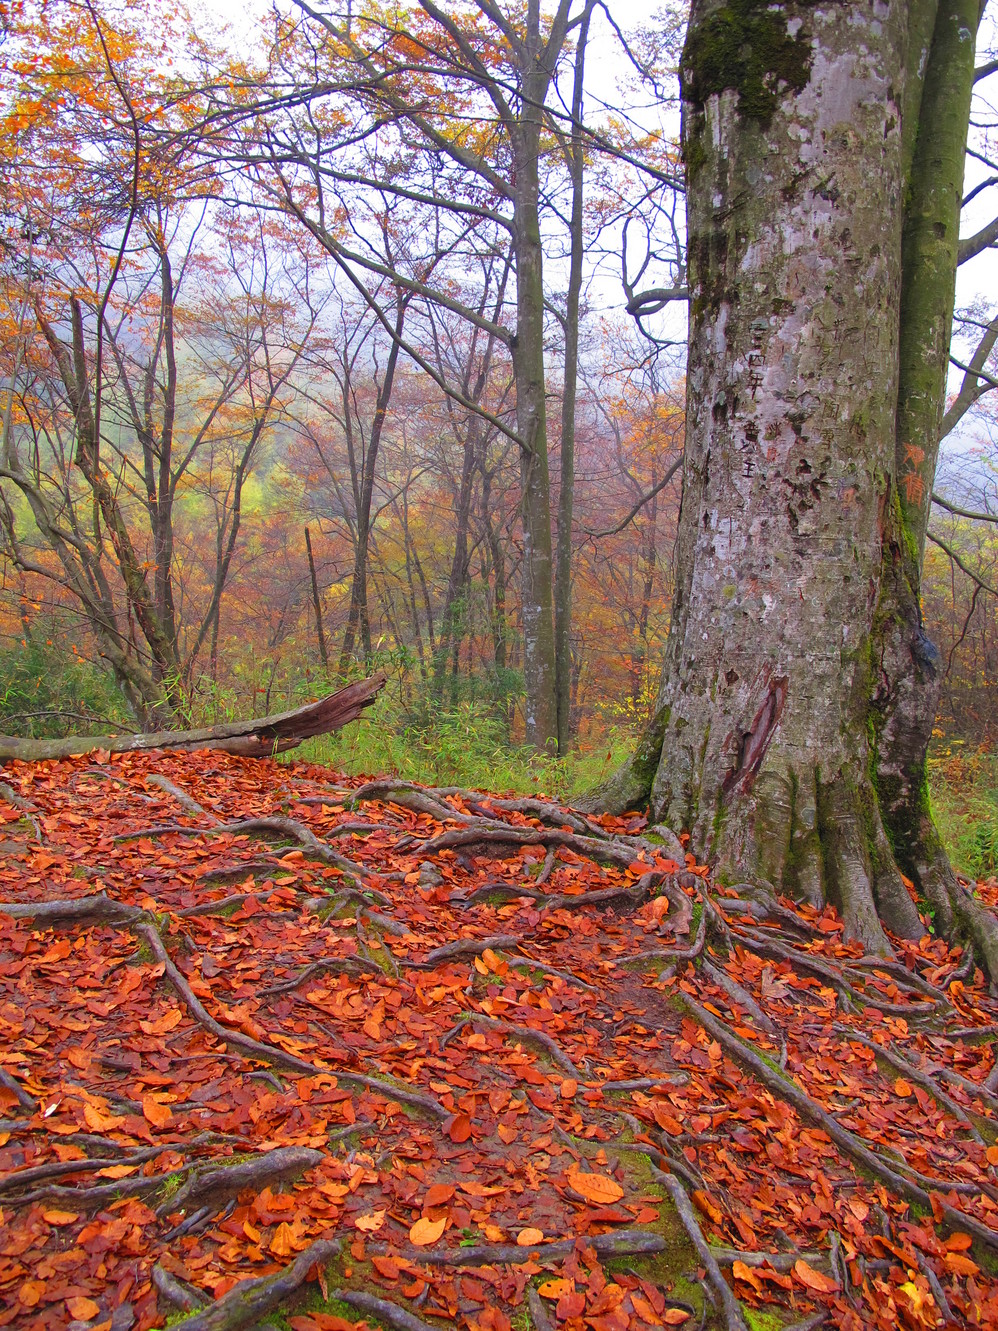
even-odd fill
[[[921,614],[925,534],[946,401],[979,8],[979,0],[923,0],[913,7],[913,19],[918,20],[913,48],[919,53],[918,72],[923,71],[923,77],[917,79],[908,98],[917,129],[912,133],[901,250],[894,458],[898,488],[888,524],[874,626],[877,677],[870,729],[877,795],[898,864],[935,913],[937,926],[969,938],[991,976],[998,976],[994,921],[957,882],[929,805],[926,753],[939,701],[942,659],[922,628]]]

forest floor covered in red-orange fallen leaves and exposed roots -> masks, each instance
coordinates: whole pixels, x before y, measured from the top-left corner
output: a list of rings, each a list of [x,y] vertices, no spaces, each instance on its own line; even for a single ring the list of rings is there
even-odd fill
[[[1,775],[0,1326],[998,1326],[959,949],[865,957],[640,817]]]

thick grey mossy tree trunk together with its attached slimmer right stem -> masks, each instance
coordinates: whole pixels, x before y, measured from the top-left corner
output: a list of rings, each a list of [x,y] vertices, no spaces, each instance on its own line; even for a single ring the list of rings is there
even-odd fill
[[[998,976],[925,755],[918,578],[953,317],[977,0],[695,0],[683,56],[691,327],[656,715],[601,792],[850,936]]]

